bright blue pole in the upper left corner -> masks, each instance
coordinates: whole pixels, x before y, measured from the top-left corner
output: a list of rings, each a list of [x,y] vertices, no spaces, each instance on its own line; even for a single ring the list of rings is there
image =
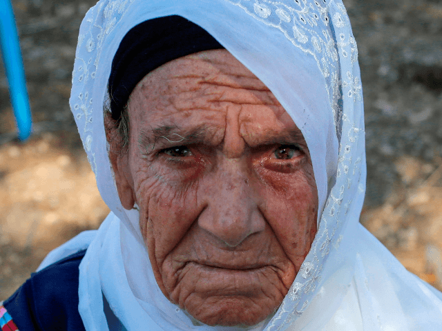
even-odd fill
[[[8,77],[9,94],[14,109],[19,139],[29,137],[32,128],[28,91],[21,59],[19,36],[10,0],[0,0],[0,46]]]

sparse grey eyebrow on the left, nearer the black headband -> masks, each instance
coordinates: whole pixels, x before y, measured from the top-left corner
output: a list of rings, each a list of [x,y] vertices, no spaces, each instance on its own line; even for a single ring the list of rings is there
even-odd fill
[[[151,151],[157,143],[169,145],[173,143],[203,143],[213,137],[213,133],[202,123],[189,129],[180,128],[175,124],[166,124],[156,128],[142,129],[138,136],[138,146],[142,150]]]

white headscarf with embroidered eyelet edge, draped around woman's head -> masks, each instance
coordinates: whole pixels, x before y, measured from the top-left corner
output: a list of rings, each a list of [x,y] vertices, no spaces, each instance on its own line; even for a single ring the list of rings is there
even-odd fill
[[[94,236],[73,239],[44,262],[90,242],[79,279],[86,330],[108,330],[103,294],[127,330],[236,330],[202,325],[164,297],[138,212],[122,207],[108,160],[103,105],[113,56],[138,23],[173,14],[204,28],[266,84],[302,131],[314,166],[320,208],[311,250],[280,308],[247,330],[442,330],[441,294],[358,223],[366,177],[363,101],[341,0],[100,0],[88,11],[70,106],[112,212]]]

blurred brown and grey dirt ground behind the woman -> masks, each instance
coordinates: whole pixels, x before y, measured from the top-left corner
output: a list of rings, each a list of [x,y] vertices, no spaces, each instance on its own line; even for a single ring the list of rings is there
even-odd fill
[[[41,259],[98,228],[99,197],[70,114],[81,19],[94,1],[13,0],[35,134],[15,137],[0,64],[0,300]],[[442,289],[442,2],[345,0],[365,97],[361,222],[405,268]]]

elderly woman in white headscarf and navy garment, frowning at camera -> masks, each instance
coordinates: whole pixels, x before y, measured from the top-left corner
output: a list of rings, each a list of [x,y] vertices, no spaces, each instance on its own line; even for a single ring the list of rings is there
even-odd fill
[[[359,77],[340,0],[99,1],[70,105],[112,212],[3,330],[442,330],[358,223]]]

